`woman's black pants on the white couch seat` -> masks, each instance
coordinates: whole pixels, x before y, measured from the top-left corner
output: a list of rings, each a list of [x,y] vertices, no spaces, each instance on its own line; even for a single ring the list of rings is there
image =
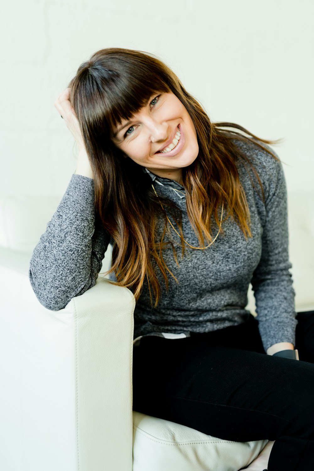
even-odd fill
[[[314,311],[298,314],[300,361],[266,355],[258,321],[133,348],[133,410],[213,437],[275,440],[268,471],[314,470]]]

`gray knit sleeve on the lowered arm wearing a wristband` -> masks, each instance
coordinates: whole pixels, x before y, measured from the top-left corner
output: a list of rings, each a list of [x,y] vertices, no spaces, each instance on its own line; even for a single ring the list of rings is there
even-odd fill
[[[289,271],[286,183],[281,162],[273,158],[269,162],[261,259],[251,280],[265,351],[279,342],[295,345],[297,325]]]

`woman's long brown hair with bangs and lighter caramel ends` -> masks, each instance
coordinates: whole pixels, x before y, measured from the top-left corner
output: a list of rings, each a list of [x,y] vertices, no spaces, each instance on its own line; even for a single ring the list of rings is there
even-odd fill
[[[224,220],[233,218],[244,237],[251,236],[250,212],[239,180],[237,159],[250,167],[264,197],[253,162],[235,146],[235,138],[259,146],[274,158],[275,154],[255,139],[266,144],[278,140],[257,138],[234,123],[212,123],[175,73],[156,57],[141,51],[102,49],[80,65],[69,87],[94,173],[95,217],[114,241],[112,266],[106,273],[115,273],[117,282],[111,283],[131,288],[135,300],[146,279],[152,306],[153,292],[156,307],[161,291],[156,265],[166,289],[167,272],[177,281],[163,257],[163,249],[170,247],[178,263],[173,243],[164,241],[169,233],[165,208],[180,230],[183,256],[181,211],[167,198],[156,198],[149,175],[113,144],[117,125],[129,120],[155,92],[173,92],[186,107],[196,128],[199,154],[182,170],[182,178],[188,218],[202,247],[212,241],[213,226],[220,227],[222,204]],[[163,227],[162,234],[160,227]]]

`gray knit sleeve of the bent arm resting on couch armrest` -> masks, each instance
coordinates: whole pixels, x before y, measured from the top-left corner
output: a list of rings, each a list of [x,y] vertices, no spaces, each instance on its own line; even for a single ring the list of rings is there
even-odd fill
[[[39,302],[57,311],[94,286],[109,242],[95,226],[94,180],[73,174],[31,256],[29,279]]]

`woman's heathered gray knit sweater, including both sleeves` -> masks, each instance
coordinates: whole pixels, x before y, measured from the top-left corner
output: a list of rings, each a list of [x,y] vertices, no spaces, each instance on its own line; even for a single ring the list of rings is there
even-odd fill
[[[237,168],[251,214],[252,237],[230,218],[213,245],[206,250],[187,246],[181,258],[180,237],[172,229],[177,250],[163,252],[178,279],[169,275],[168,292],[163,277],[161,298],[152,309],[147,283],[134,310],[134,338],[153,333],[209,332],[242,323],[248,315],[247,290],[251,282],[256,300],[259,332],[266,350],[277,342],[295,343],[297,321],[289,269],[287,197],[282,165],[255,145],[235,140],[259,172],[253,187],[249,171],[239,160]],[[144,170],[144,169],[143,169]],[[158,195],[172,199],[182,210],[185,240],[199,246],[186,211],[185,197],[173,190],[184,188],[172,180],[150,174]],[[215,233],[215,228],[213,229]],[[167,240],[167,239],[165,239]],[[169,239],[168,239],[169,240]],[[41,235],[30,263],[29,278],[39,302],[47,309],[63,309],[74,297],[94,286],[101,270],[110,235],[94,219],[94,180],[73,174],[69,186]]]

